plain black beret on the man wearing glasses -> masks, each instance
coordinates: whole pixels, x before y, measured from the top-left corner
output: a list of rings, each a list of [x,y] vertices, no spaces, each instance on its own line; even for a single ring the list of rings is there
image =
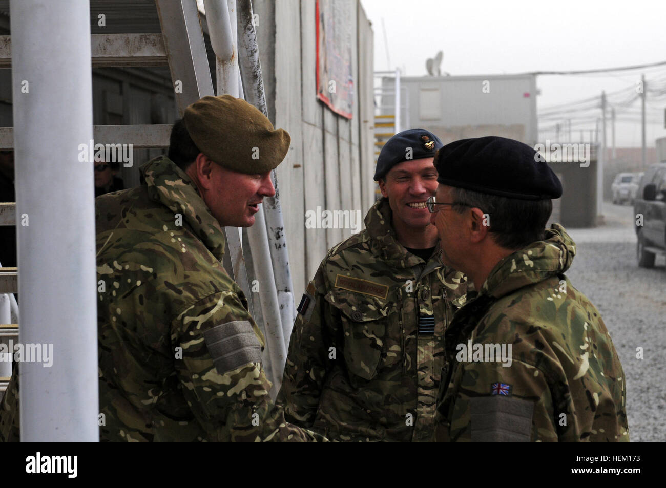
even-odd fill
[[[562,184],[543,156],[513,139],[456,140],[438,151],[435,166],[438,182],[448,186],[521,200],[562,196]]]

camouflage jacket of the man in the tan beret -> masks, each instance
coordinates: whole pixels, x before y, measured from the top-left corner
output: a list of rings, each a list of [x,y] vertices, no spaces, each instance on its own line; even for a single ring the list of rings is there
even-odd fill
[[[270,401],[264,338],[196,186],[165,157],[141,172],[96,200],[101,440],[314,440]]]

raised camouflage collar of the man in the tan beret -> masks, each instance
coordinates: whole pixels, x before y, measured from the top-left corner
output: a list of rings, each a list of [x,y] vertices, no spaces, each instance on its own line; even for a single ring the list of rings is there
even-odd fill
[[[166,156],[159,156],[141,169],[151,200],[160,202],[182,218],[217,258],[224,256],[224,232],[187,174]],[[174,219],[176,217],[174,216]]]

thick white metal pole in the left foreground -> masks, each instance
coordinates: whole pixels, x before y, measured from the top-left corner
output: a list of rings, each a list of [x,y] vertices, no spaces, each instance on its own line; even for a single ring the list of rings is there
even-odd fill
[[[41,349],[21,364],[21,441],[96,442],[89,2],[12,0],[11,50],[19,339]]]

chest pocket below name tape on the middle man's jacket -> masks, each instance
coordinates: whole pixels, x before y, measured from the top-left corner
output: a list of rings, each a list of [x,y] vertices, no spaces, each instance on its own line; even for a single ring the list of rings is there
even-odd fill
[[[399,359],[399,352],[390,351],[387,344],[390,324],[398,322],[394,304],[347,292],[329,294],[326,300],[340,312],[344,361],[355,386],[360,384],[352,375],[364,380],[374,379],[380,364],[392,362],[394,357]]]

